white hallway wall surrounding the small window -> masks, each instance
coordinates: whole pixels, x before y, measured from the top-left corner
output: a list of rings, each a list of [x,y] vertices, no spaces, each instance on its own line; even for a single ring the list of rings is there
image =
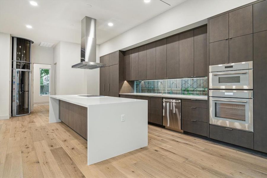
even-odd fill
[[[40,95],[40,69],[50,69],[51,92],[51,64],[33,64],[33,104],[49,103],[49,95]]]

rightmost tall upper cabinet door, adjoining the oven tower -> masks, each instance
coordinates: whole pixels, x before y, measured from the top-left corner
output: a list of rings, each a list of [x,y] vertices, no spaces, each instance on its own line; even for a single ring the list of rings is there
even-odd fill
[[[208,76],[207,26],[194,30],[194,76]]]

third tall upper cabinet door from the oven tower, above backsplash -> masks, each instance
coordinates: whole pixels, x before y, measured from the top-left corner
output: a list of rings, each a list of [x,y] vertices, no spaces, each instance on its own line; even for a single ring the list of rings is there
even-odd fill
[[[179,35],[167,38],[167,78],[179,78]]]

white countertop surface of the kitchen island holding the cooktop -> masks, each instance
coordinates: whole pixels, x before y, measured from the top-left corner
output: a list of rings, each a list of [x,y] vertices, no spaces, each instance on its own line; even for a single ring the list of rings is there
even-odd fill
[[[82,94],[79,94],[82,95]],[[98,96],[98,97],[84,97],[79,95],[50,95],[51,98],[59,99],[69,103],[77,104],[80,106],[88,107],[90,105],[96,104],[111,104],[111,103],[124,103],[124,102],[133,102],[140,101],[139,99],[130,99],[130,98],[118,98],[111,96]],[[87,95],[87,94],[83,94]]]

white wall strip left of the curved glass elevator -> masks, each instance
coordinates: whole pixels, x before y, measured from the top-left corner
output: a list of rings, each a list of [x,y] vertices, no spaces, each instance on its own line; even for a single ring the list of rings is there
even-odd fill
[[[0,120],[11,113],[10,34],[0,33]]]

